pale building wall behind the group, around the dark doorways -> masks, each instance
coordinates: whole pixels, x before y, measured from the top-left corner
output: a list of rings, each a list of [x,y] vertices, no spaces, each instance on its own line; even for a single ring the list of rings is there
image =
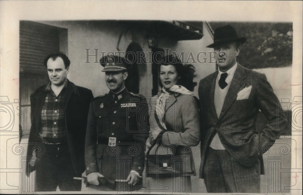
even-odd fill
[[[63,52],[68,55],[71,60],[70,72],[68,73],[68,79],[74,82],[76,85],[86,87],[92,90],[94,97],[102,95],[108,92],[108,88],[105,84],[105,73],[101,72],[103,67],[99,63],[95,63],[95,56],[88,58],[89,63],[85,63],[86,50],[90,48],[89,55],[95,55],[94,48],[98,48],[99,61],[101,58],[100,52],[118,51],[117,43],[119,35],[122,31],[128,29],[127,26],[123,26],[121,21],[37,21],[40,23],[57,26],[68,29],[68,47],[63,47]],[[145,38],[145,31],[136,31],[135,40],[138,42],[143,51],[147,54],[151,49],[148,48],[147,40]],[[180,55],[182,51],[185,52],[184,59],[188,59],[190,51],[196,59],[197,54],[200,51],[213,51],[211,48],[206,48],[213,42],[213,38],[210,35],[207,27],[203,26],[203,37],[200,40],[191,41],[175,41],[169,38],[159,38],[159,48],[171,48],[171,51],[176,51],[177,55]],[[132,42],[132,33],[128,31],[123,34],[119,49],[120,51],[126,51],[127,46]],[[62,48],[62,47],[61,47]],[[147,55],[148,56],[148,55]],[[200,55],[200,61],[202,58],[208,58],[209,56],[203,54]],[[148,61],[148,59],[146,59]],[[192,63],[196,68],[197,77],[195,82],[199,81],[215,71],[215,64],[210,63]],[[151,95],[152,89],[152,74],[151,64],[146,64],[146,67],[142,67],[140,70],[140,84],[139,93],[143,95]],[[198,84],[195,87],[195,95],[198,97]]]

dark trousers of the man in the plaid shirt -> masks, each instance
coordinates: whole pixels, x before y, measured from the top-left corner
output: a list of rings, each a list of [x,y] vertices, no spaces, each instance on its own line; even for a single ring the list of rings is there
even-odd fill
[[[36,191],[80,191],[67,144],[43,144],[45,153],[36,158]]]

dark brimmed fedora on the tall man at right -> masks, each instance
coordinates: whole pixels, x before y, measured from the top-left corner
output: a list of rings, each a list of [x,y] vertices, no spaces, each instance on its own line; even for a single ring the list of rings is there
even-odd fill
[[[214,33],[214,43],[206,46],[207,48],[214,48],[215,46],[229,43],[232,41],[240,41],[243,44],[246,41],[245,37],[239,38],[234,27],[231,25],[216,28]]]

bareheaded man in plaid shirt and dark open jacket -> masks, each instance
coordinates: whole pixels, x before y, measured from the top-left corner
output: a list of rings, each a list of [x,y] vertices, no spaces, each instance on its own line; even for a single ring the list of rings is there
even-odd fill
[[[27,175],[36,170],[36,191],[80,191],[85,170],[84,147],[92,91],[67,79],[70,61],[65,54],[45,58],[50,82],[31,95],[31,131]],[[38,146],[38,147],[37,147]],[[32,167],[30,159],[36,157]]]

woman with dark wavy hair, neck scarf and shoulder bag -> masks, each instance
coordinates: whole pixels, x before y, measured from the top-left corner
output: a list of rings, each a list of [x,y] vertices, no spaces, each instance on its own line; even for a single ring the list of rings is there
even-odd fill
[[[153,191],[191,192],[195,164],[192,154],[200,142],[197,98],[191,92],[195,68],[173,55],[161,60],[161,91],[151,98],[147,139],[147,186]]]

